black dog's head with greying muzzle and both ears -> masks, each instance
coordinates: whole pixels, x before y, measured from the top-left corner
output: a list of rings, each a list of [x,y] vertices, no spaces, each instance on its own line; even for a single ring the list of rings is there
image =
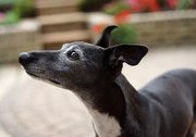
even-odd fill
[[[29,75],[71,90],[111,83],[121,74],[123,62],[136,65],[148,51],[138,45],[109,47],[110,34],[115,27],[106,27],[95,45],[64,43],[57,51],[21,53],[19,61]]]

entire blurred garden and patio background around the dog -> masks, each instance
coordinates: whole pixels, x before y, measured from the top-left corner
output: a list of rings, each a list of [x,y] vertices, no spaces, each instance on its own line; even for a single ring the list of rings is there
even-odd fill
[[[117,24],[111,46],[140,43],[148,54],[123,73],[138,89],[173,68],[196,70],[195,0],[0,0],[0,137],[91,137],[88,112],[69,90],[27,76],[21,52],[95,43]]]

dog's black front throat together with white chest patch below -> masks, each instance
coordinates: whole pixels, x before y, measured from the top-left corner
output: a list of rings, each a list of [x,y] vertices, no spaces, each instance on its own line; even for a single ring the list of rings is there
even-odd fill
[[[75,94],[91,115],[98,136],[118,137],[121,135],[121,120],[125,112],[123,92],[115,83],[102,84],[96,84],[91,89],[83,89]]]

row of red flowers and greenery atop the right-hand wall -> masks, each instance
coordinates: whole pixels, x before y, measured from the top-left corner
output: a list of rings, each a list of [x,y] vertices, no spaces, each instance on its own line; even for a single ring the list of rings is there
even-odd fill
[[[123,10],[131,13],[156,12],[161,10],[194,9],[195,0],[117,0],[106,4],[102,11],[114,15]]]

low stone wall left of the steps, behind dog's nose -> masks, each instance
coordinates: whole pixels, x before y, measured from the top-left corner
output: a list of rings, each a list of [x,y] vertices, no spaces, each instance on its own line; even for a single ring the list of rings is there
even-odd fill
[[[40,50],[39,27],[39,23],[35,20],[0,25],[0,63],[16,62],[19,53]]]

